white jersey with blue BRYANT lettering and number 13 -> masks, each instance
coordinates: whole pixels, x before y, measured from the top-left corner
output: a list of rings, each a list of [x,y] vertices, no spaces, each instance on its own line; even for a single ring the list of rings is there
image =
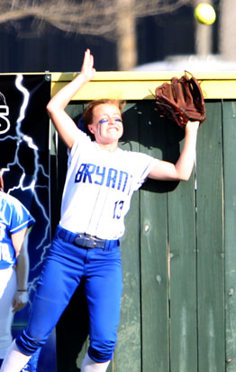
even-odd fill
[[[59,225],[73,233],[119,239],[132,194],[156,160],[117,148],[108,153],[82,131],[68,152],[68,173]]]

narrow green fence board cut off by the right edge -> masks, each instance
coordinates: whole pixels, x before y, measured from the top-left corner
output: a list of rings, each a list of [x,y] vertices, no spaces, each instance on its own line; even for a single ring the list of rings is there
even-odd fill
[[[222,102],[226,370],[236,370],[236,102]]]

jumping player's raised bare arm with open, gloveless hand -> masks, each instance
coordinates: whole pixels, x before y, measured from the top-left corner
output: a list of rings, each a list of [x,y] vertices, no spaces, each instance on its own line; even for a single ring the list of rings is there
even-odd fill
[[[87,49],[84,57],[84,62],[81,67],[81,72],[75,79],[64,86],[58,93],[51,98],[47,105],[47,111],[50,115],[55,128],[59,132],[59,136],[65,144],[71,148],[74,144],[77,134],[77,126],[68,113],[65,111],[68,102],[77,93],[77,91],[95,75],[94,58]]]

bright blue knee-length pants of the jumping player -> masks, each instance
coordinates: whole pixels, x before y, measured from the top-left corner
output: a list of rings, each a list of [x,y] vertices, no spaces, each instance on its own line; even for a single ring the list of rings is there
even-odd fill
[[[110,360],[117,339],[123,289],[119,241],[108,241],[104,249],[80,248],[60,238],[60,229],[58,226],[41,271],[29,323],[16,344],[26,355],[41,347],[84,278],[89,312],[88,355],[96,362]]]

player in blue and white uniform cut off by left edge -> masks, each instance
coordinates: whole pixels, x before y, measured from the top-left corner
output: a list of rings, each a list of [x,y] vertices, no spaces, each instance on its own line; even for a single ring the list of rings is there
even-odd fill
[[[12,343],[14,313],[28,301],[29,263],[23,241],[33,223],[23,204],[4,192],[0,174],[0,365]]]

